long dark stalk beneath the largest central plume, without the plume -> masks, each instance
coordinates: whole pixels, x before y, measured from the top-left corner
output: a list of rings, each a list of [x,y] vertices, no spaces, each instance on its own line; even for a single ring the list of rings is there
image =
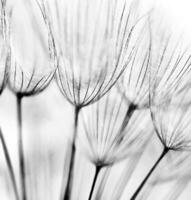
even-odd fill
[[[71,196],[71,188],[73,184],[73,174],[74,174],[74,163],[75,163],[75,157],[76,157],[76,136],[77,136],[80,107],[76,106],[74,112],[75,112],[74,113],[75,115],[74,116],[74,132],[73,132],[72,149],[71,149],[71,155],[70,155],[70,161],[69,161],[68,180],[66,184],[64,198],[63,198],[64,200],[69,200]]]

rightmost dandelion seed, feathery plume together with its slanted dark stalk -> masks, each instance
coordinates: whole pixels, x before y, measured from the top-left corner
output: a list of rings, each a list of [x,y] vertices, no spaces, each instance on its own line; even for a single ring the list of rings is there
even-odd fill
[[[165,32],[158,38],[153,37],[152,32],[151,41],[149,103],[155,132],[163,145],[163,152],[131,200],[136,199],[150,175],[170,150],[183,151],[191,147],[189,49],[182,50],[180,41],[176,42],[175,38]]]

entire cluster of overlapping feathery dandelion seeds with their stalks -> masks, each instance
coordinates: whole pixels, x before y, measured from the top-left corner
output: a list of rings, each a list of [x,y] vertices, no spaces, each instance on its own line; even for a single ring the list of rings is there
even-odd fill
[[[18,163],[6,130],[0,141],[14,199],[44,199],[29,187],[36,172],[27,167],[23,100],[53,82],[74,110],[66,152],[59,152],[65,160],[58,199],[152,199],[166,182],[173,186],[164,199],[182,198],[190,181],[191,49],[158,23],[154,9],[140,7],[139,0],[0,1],[0,94],[10,90],[16,98]],[[158,159],[131,184],[146,149],[158,147]],[[82,166],[86,175],[77,185],[80,159],[94,171]],[[161,162],[166,166],[157,174]]]

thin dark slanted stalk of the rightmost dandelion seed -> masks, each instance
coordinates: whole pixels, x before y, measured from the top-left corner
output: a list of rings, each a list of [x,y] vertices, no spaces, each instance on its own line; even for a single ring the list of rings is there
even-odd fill
[[[146,177],[143,179],[143,181],[141,182],[141,184],[139,185],[139,187],[137,188],[137,190],[135,191],[135,193],[133,194],[133,196],[130,198],[130,200],[135,200],[136,199],[137,195],[140,193],[140,191],[142,190],[143,186],[145,185],[145,183],[147,182],[147,180],[149,179],[149,177],[151,176],[151,174],[153,173],[153,171],[155,170],[155,168],[158,166],[158,164],[160,163],[160,161],[168,153],[168,151],[169,151],[168,148],[164,148],[164,150],[161,153],[161,155],[159,156],[158,160],[155,162],[155,164],[153,165],[153,167],[150,169],[150,171],[148,172],[148,174],[146,175]]]

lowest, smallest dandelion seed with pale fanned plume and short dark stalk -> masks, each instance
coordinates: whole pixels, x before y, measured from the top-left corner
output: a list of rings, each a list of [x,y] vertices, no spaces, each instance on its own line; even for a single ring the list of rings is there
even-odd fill
[[[84,152],[96,168],[89,200],[100,170],[133,154],[153,130],[152,126],[145,130],[150,122],[148,111],[135,111],[126,123],[126,110],[128,106],[124,97],[111,91],[82,111],[79,140],[84,143]]]

